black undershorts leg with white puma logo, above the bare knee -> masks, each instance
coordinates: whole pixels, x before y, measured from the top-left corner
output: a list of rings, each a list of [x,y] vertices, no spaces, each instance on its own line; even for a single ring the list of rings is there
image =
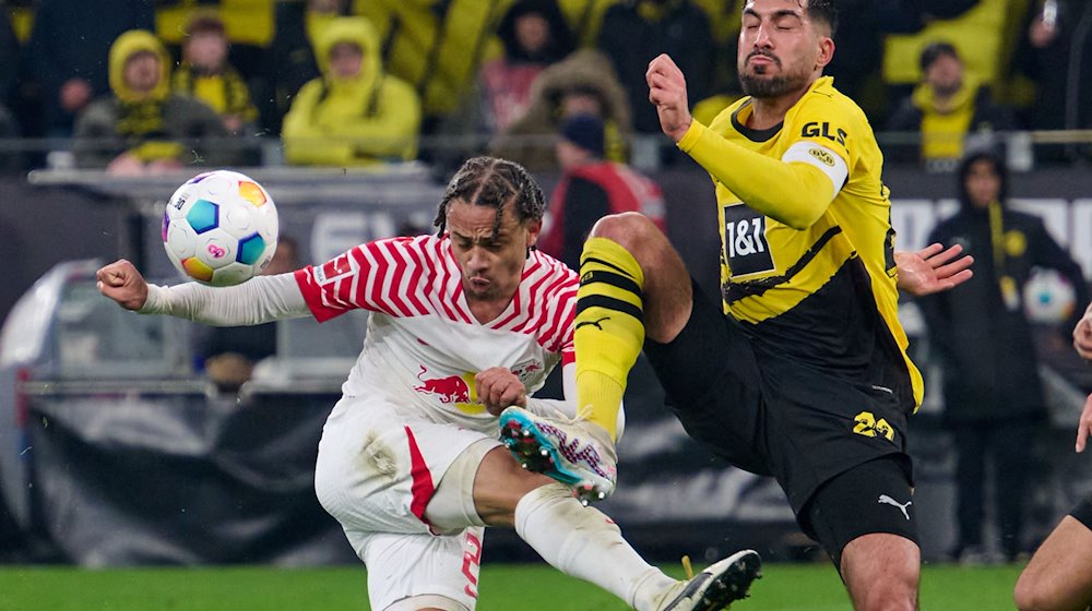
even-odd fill
[[[889,532],[917,543],[910,463],[889,454],[824,482],[797,517],[804,532],[819,541],[841,572],[842,550],[860,537]]]

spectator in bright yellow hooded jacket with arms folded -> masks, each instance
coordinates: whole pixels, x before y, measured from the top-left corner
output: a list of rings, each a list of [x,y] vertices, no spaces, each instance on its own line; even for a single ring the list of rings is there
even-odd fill
[[[284,118],[289,164],[363,166],[417,155],[420,100],[387,74],[364,17],[337,17],[316,41],[322,76],[299,89]]]

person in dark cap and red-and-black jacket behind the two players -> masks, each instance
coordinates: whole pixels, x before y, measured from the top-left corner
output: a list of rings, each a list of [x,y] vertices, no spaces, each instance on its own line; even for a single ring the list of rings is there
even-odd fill
[[[664,195],[652,179],[604,159],[603,121],[578,113],[561,121],[555,145],[561,180],[550,196],[538,248],[578,269],[584,240],[608,214],[639,212],[666,230]]]

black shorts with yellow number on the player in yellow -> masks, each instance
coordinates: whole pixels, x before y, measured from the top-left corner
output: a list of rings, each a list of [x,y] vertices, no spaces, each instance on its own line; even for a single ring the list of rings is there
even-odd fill
[[[784,357],[758,356],[738,323],[693,284],[693,311],[669,344],[645,342],[665,403],[687,433],[732,465],[773,476],[799,520],[823,482],[905,454],[894,393]]]

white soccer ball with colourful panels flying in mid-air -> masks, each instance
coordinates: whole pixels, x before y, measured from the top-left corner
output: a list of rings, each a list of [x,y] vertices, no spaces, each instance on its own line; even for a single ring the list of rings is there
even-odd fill
[[[186,181],[163,213],[163,247],[188,280],[232,286],[261,273],[277,240],[273,199],[253,179],[215,170]]]

